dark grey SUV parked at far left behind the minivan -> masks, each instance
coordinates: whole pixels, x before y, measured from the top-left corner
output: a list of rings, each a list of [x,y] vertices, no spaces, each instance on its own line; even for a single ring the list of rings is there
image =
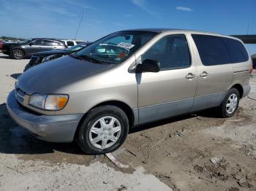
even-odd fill
[[[56,39],[28,39],[20,43],[4,43],[1,52],[14,59],[29,58],[35,52],[64,49],[63,42]]]

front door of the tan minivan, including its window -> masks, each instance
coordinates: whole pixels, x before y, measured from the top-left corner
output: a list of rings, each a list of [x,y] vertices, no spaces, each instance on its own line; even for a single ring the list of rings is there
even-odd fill
[[[184,34],[164,36],[140,56],[160,62],[157,73],[137,75],[139,123],[184,114],[192,109],[197,70]]]

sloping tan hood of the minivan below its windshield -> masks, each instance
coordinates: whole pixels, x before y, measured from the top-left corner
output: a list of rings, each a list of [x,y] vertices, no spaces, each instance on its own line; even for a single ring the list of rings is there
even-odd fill
[[[27,94],[59,93],[65,85],[71,85],[113,65],[90,63],[65,56],[39,64],[18,77],[18,87]]]

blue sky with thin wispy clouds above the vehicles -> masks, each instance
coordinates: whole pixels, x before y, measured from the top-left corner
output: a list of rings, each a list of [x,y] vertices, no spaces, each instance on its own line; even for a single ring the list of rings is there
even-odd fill
[[[0,0],[0,36],[94,41],[130,28],[256,34],[255,0]],[[256,44],[246,45],[256,53]]]

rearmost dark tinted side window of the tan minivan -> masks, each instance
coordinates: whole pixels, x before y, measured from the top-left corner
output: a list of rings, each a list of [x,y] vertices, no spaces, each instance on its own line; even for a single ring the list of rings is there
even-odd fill
[[[236,39],[223,38],[227,44],[227,48],[230,52],[232,63],[241,63],[248,61],[249,55],[244,47],[244,44]]]

